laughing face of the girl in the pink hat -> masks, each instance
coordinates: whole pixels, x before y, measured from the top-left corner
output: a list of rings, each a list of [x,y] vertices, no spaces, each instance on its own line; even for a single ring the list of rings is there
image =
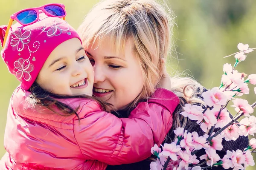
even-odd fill
[[[78,38],[58,45],[38,74],[37,83],[53,94],[92,95],[93,67]]]

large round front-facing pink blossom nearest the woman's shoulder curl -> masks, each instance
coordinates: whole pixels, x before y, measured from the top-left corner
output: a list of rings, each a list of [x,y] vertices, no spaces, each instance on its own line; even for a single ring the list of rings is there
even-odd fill
[[[219,91],[217,87],[204,92],[202,96],[204,97],[205,104],[210,107],[221,108],[221,105],[227,103],[227,96],[222,91]]]

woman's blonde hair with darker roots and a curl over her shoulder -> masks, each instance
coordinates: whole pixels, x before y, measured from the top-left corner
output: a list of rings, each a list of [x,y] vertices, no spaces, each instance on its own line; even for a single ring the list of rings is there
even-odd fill
[[[166,7],[166,8],[165,8]],[[168,9],[168,14],[166,13]],[[174,14],[167,5],[155,0],[103,0],[96,4],[78,28],[84,49],[97,47],[103,40],[111,42],[117,53],[125,43],[134,42],[134,54],[140,61],[145,83],[131,108],[141,99],[148,99],[165,69],[165,61],[173,46]],[[184,103],[200,102],[196,98],[201,85],[190,78],[172,78],[172,91],[180,97],[180,106],[174,113],[173,128],[185,126],[180,112]]]

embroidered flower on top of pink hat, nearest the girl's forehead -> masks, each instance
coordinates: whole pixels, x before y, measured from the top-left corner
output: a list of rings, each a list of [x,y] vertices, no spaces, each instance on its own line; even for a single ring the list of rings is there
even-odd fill
[[[69,29],[66,22],[53,20],[51,23],[44,24],[43,31],[47,32],[47,36],[50,37],[52,35],[58,36],[62,31],[68,31]]]

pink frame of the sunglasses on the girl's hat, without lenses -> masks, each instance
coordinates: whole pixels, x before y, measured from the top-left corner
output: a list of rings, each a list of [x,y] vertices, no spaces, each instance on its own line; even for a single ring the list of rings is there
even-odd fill
[[[56,15],[49,14],[49,12],[47,12],[47,11],[44,9],[44,7],[46,7],[46,6],[52,6],[52,5],[61,7],[61,8],[63,9],[63,11],[65,12],[65,14],[64,14],[64,15],[61,15],[61,16],[56,16]],[[33,22],[31,22],[31,23],[27,23],[27,24],[21,23],[20,20],[17,19],[17,15],[20,14],[21,12],[29,11],[29,10],[34,10],[34,11],[36,11],[37,18],[35,19],[35,21],[33,21]],[[38,21],[38,18],[39,18],[39,10],[44,11],[44,14],[46,14],[48,17],[59,17],[59,18],[62,18],[62,17],[65,17],[65,16],[67,15],[67,12],[66,12],[66,10],[65,10],[64,4],[62,4],[62,3],[49,3],[49,4],[46,4],[46,5],[44,5],[44,6],[40,6],[40,7],[36,7],[36,8],[26,8],[26,9],[17,11],[17,12],[15,12],[14,14],[12,14],[10,18],[11,18],[12,20],[16,20],[18,23],[20,23],[20,24],[23,25],[23,26],[27,26],[27,25],[33,24],[33,23],[35,23],[35,22]],[[65,18],[64,18],[64,20],[65,20]]]

